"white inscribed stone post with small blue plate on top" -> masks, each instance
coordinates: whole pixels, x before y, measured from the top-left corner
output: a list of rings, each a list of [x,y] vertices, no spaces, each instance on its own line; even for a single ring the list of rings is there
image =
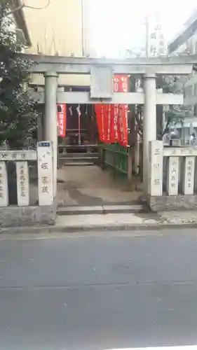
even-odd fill
[[[53,204],[53,150],[51,142],[37,143],[39,205]]]

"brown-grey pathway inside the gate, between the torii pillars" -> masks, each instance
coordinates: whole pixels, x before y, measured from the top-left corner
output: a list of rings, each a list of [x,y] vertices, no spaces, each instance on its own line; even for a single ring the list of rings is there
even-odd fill
[[[97,166],[63,167],[57,173],[57,194],[62,206],[136,204],[142,192],[135,191],[138,179],[113,179]]]

